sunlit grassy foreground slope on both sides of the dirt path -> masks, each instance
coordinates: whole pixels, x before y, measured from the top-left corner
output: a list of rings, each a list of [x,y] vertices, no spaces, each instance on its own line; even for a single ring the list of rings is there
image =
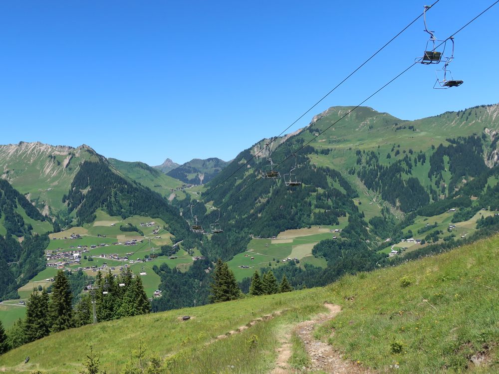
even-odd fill
[[[84,341],[102,352],[101,363],[108,373],[117,373],[117,364],[122,364],[130,347],[143,339],[151,352],[162,356],[177,353],[175,373],[207,373],[207,363],[216,373],[225,373],[227,365],[235,365],[238,373],[265,373],[272,367],[282,329],[309,318],[328,301],[340,304],[343,311],[317,327],[315,335],[361,365],[385,371],[399,363],[399,373],[453,373],[469,365],[471,372],[494,373],[499,370],[498,266],[496,236],[440,256],[346,276],[324,288],[127,318],[54,334],[5,354],[0,358],[0,370],[15,368],[27,373],[37,368],[72,373],[86,353],[86,345],[81,344]],[[403,277],[409,280],[407,287],[402,286]],[[282,316],[260,322],[242,334],[212,341],[212,337],[255,317],[285,309],[288,311]],[[185,314],[194,318],[182,323],[178,317]],[[248,355],[251,334],[261,343]],[[206,346],[208,342],[212,344]],[[400,344],[401,353],[392,352],[393,342]],[[486,352],[487,366],[474,370],[469,358],[482,351]],[[26,356],[31,360],[24,366],[21,363]]]

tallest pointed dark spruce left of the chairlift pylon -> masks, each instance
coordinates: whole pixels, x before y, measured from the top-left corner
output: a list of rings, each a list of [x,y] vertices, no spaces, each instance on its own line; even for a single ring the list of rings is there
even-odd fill
[[[50,297],[50,321],[51,330],[58,332],[66,330],[73,325],[73,310],[71,301],[73,295],[64,271],[59,270],[52,285],[52,295]]]

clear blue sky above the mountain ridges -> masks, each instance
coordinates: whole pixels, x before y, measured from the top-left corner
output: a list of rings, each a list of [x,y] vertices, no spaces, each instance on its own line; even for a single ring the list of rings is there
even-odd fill
[[[493,0],[440,0],[445,38]],[[277,135],[423,10],[405,1],[1,1],[0,143],[88,144],[161,164]],[[499,4],[456,36],[454,78],[417,65],[365,105],[416,119],[499,101]],[[421,56],[420,19],[290,131],[356,105]]]

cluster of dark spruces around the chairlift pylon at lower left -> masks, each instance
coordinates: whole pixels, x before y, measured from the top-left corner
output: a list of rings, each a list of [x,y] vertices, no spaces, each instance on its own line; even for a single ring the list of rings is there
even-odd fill
[[[74,310],[71,286],[64,271],[58,271],[51,291],[49,294],[44,288],[42,291],[33,288],[26,303],[25,319],[15,322],[8,333],[0,323],[0,354],[50,333],[92,323],[94,306],[98,322],[146,314],[151,310],[141,277],[134,276],[129,269],[117,278],[111,272],[103,276],[99,271],[94,285]]]

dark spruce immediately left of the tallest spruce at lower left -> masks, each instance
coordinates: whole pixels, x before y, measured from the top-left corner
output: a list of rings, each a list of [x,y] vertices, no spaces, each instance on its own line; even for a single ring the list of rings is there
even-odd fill
[[[41,339],[50,334],[48,322],[48,293],[45,289],[38,292],[35,288],[29,295],[24,319],[24,334],[26,342]]]

